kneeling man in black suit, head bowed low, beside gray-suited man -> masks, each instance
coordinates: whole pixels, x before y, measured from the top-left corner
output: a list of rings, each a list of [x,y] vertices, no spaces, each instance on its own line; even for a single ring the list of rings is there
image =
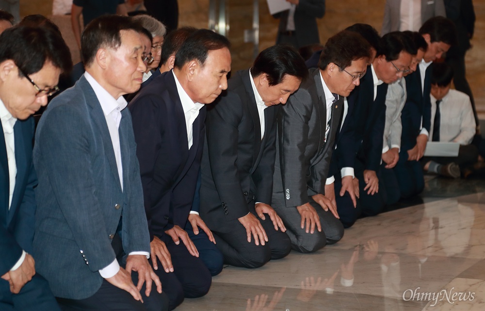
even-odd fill
[[[276,116],[307,76],[296,50],[275,45],[234,73],[207,114],[200,213],[226,264],[258,268],[291,251],[271,207]]]

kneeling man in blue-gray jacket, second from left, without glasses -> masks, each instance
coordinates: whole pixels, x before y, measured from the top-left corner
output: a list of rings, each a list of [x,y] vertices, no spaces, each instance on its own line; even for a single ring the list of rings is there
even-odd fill
[[[34,254],[66,309],[167,309],[147,260],[136,144],[122,96],[140,87],[146,70],[142,29],[125,16],[93,20],[81,38],[86,72],[51,101],[37,127]]]

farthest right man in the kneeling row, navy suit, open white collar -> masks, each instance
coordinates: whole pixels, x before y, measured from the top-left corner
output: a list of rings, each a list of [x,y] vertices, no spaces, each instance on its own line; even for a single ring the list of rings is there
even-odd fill
[[[401,150],[399,161],[393,168],[401,198],[418,195],[424,189],[424,176],[418,161],[424,154],[431,130],[430,65],[457,42],[453,22],[442,16],[427,20],[419,33],[428,44],[428,49],[416,71],[404,78],[407,98],[401,113]]]

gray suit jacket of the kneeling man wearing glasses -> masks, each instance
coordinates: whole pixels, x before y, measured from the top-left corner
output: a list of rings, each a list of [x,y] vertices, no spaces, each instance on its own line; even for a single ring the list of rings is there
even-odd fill
[[[307,80],[278,114],[273,206],[299,206],[307,203],[309,196],[325,194],[342,109],[340,97],[332,106],[325,141],[326,101],[320,69],[310,69]]]

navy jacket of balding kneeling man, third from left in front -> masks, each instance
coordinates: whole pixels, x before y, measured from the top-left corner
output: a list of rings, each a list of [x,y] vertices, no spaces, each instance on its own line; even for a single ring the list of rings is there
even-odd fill
[[[150,239],[185,227],[194,199],[205,136],[206,107],[193,124],[189,150],[182,103],[173,71],[162,73],[128,105],[133,119]]]

